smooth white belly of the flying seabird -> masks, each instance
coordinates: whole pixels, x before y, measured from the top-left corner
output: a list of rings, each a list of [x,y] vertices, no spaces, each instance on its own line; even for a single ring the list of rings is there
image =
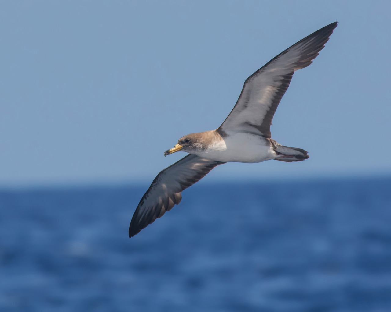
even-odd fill
[[[208,147],[198,156],[224,162],[260,163],[276,158],[276,153],[266,138],[249,133],[238,133],[224,138],[219,144]]]

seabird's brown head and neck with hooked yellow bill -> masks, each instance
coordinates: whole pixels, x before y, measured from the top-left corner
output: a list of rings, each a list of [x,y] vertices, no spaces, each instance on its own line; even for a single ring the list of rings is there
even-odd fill
[[[197,133],[190,133],[188,135],[185,135],[184,137],[181,137],[178,140],[178,144],[175,145],[172,149],[167,149],[167,151],[164,152],[164,156],[167,156],[169,154],[178,152],[178,151],[184,151],[191,154],[194,154],[196,151],[202,151],[206,149],[210,141],[215,136],[215,131],[205,131],[205,132],[197,132]]]

